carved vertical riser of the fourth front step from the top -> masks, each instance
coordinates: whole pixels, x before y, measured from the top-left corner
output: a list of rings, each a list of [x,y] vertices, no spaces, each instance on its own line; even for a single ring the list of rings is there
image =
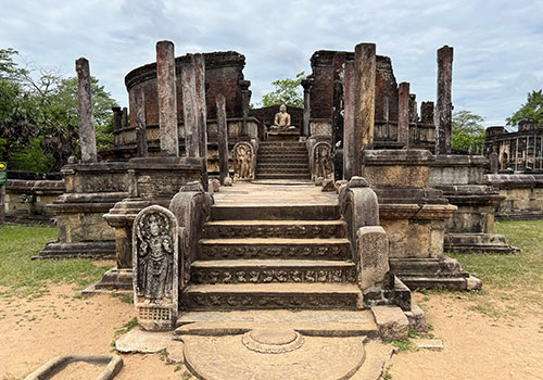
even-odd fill
[[[192,283],[356,283],[354,265],[345,267],[236,267],[236,268],[191,268]]]

